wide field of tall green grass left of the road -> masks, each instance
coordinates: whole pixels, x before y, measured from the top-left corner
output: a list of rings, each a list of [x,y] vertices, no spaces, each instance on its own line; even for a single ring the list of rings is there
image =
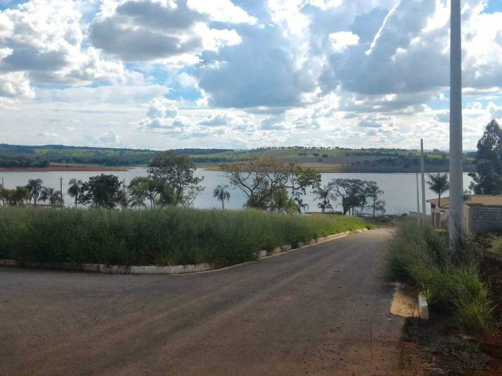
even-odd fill
[[[361,219],[260,211],[0,209],[0,259],[21,263],[233,265],[261,250],[362,229]]]

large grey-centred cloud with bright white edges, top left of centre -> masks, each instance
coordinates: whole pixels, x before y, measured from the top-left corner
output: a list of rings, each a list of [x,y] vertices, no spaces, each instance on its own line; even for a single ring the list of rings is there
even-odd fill
[[[170,59],[195,62],[203,51],[218,51],[240,43],[233,29],[210,28],[211,21],[250,23],[229,0],[158,2],[125,0],[101,7],[89,26],[92,44],[126,61]]]

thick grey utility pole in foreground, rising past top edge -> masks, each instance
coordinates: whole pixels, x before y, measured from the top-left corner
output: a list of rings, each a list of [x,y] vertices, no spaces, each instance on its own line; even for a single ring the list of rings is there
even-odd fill
[[[450,45],[450,247],[454,251],[463,230],[462,161],[462,40],[460,0],[451,0]]]

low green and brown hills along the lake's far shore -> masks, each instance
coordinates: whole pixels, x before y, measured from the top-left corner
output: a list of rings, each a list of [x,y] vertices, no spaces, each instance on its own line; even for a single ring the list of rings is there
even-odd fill
[[[299,163],[323,172],[418,172],[418,150],[343,147],[263,147],[250,150],[173,149],[197,164],[219,169],[221,163],[250,160],[268,155],[284,162]],[[110,167],[147,165],[158,150],[64,145],[0,144],[0,167],[42,168],[49,165],[101,165]],[[464,154],[464,170],[474,171],[475,152]],[[427,172],[448,171],[448,153],[434,149],[425,153]]]

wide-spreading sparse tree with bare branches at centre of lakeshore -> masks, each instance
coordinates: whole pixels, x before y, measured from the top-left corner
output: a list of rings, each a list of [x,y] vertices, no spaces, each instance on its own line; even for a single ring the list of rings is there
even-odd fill
[[[273,157],[261,157],[246,162],[223,164],[230,184],[247,197],[247,207],[271,210],[273,196],[286,190],[292,195],[306,194],[307,187],[316,189],[321,174],[313,169],[302,169],[294,163],[284,163]]]

